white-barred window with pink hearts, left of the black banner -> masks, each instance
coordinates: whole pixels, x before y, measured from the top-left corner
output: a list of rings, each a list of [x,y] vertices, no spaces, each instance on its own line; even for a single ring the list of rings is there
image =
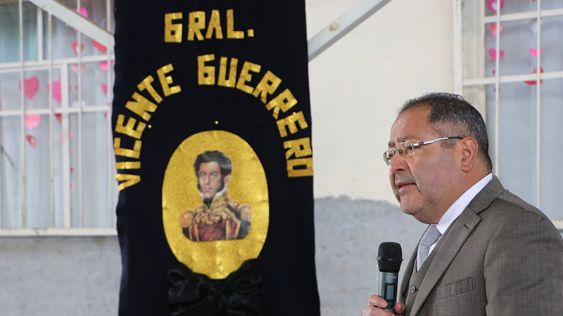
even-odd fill
[[[0,236],[115,235],[113,47],[30,2],[0,1]],[[109,0],[57,2],[113,32]]]

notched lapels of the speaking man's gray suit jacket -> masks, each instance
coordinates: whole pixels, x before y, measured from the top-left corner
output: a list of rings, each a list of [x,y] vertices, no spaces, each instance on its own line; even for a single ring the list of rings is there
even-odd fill
[[[504,187],[502,187],[498,178],[493,176],[493,180],[483,187],[483,190],[474,197],[472,202],[469,202],[469,205],[460,216],[450,225],[436,245],[438,252],[430,263],[422,284],[420,284],[420,289],[415,298],[415,302],[412,304],[410,315],[417,315],[422,304],[426,301],[426,298],[428,298],[445,270],[448,269],[448,266],[453,261],[453,258],[455,258],[457,252],[460,251],[465,240],[469,237],[469,234],[471,234],[472,230],[479,221],[481,221],[481,217],[477,214],[481,213],[483,209],[486,209],[488,205],[493,202],[493,199],[498,197],[503,190]],[[413,256],[416,256],[416,249]],[[413,261],[412,258],[411,261]],[[412,266],[410,268],[412,271]],[[405,277],[403,277],[403,282],[405,282]],[[403,293],[403,291],[401,291],[401,293]]]

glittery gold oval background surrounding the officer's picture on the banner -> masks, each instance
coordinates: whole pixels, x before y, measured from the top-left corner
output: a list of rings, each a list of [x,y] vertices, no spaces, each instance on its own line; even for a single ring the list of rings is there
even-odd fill
[[[194,242],[184,236],[179,216],[201,206],[194,161],[198,154],[219,150],[232,160],[229,196],[251,206],[251,230],[243,239]],[[245,140],[227,131],[204,131],[186,138],[170,157],[163,182],[163,224],[178,261],[212,279],[224,279],[251,258],[266,241],[270,221],[267,180],[258,155]]]

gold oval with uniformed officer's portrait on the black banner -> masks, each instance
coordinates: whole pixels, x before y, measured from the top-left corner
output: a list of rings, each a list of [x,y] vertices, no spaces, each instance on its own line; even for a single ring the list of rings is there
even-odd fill
[[[227,131],[186,138],[168,162],[163,223],[178,261],[224,279],[266,241],[270,208],[264,168],[245,140]]]

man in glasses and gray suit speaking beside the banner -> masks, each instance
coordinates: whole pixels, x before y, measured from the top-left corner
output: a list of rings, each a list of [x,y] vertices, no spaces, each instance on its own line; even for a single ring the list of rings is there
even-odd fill
[[[492,176],[486,126],[461,96],[407,101],[384,160],[404,213],[429,224],[397,315],[563,315],[563,240]],[[363,315],[391,315],[370,296]]]

